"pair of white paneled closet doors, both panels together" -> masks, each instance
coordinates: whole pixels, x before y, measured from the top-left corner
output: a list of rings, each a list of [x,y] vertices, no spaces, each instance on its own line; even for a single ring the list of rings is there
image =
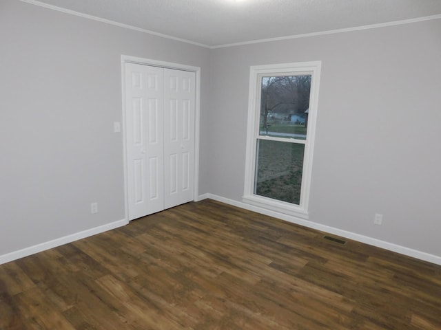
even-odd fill
[[[193,200],[195,74],[125,63],[129,219]]]

